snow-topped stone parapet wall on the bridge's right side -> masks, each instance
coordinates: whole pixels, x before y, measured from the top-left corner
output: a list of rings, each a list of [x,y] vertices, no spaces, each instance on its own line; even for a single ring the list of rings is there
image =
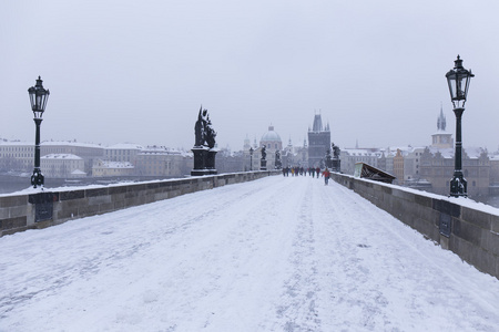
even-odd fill
[[[332,178],[499,279],[499,209],[338,173]]]

